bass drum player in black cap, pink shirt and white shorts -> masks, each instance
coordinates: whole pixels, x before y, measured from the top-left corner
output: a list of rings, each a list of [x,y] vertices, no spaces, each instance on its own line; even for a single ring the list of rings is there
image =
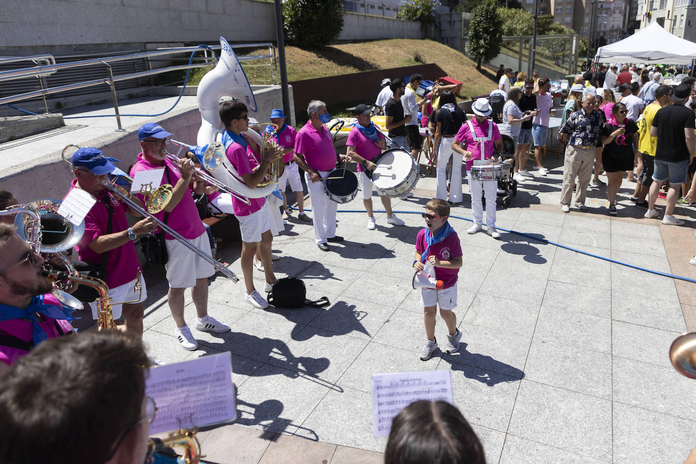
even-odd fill
[[[348,134],[348,157],[358,163],[358,173],[360,176],[360,189],[363,191],[363,205],[367,211],[367,229],[374,230],[377,225],[374,223],[374,215],[372,214],[372,179],[365,174],[365,169],[373,170],[375,164],[372,160],[381,154],[382,150],[386,150],[387,144],[382,133],[377,130],[374,122],[370,120],[372,112],[367,105],[358,105],[355,107],[355,117],[358,123],[350,129]],[[376,188],[376,187],[375,187]],[[396,217],[391,209],[391,199],[377,189],[377,194],[387,214],[387,224],[404,225],[404,221]]]

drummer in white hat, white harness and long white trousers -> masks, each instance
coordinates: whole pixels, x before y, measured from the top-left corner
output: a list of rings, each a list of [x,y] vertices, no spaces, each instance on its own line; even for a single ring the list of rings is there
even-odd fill
[[[498,131],[498,125],[487,118],[491,114],[491,106],[488,99],[477,99],[471,106],[474,112],[473,120],[468,120],[459,128],[459,132],[452,141],[452,150],[464,155],[466,158],[466,170],[468,170],[468,183],[471,192],[471,212],[474,216],[474,225],[468,232],[475,234],[483,230],[483,201],[481,191],[486,195],[486,224],[487,233],[493,239],[500,238],[496,230],[496,190],[498,181],[480,181],[471,179],[471,167],[498,161],[498,154],[503,151],[503,138]],[[466,144],[466,149],[461,147]]]

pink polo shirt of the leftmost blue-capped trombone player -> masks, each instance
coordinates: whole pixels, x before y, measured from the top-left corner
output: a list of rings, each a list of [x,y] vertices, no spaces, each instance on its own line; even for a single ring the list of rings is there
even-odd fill
[[[72,179],[68,193],[77,188],[76,183],[77,179]],[[102,253],[96,253],[89,244],[97,237],[106,235],[109,210],[106,209],[105,201],[109,202],[113,208],[110,233],[121,232],[129,227],[125,214],[127,205],[109,191],[102,191],[102,195],[97,198],[97,202],[85,216],[85,233],[75,246],[77,255],[82,261],[95,264],[97,267],[102,265]],[[106,252],[106,285],[109,285],[110,289],[132,282],[136,278],[138,269],[140,269],[140,263],[132,240]]]

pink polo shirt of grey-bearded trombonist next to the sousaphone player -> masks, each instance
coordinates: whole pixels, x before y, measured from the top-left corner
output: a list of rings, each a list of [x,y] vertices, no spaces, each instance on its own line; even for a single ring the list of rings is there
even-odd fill
[[[175,186],[176,183],[181,179],[181,173],[179,172],[179,166],[177,166],[173,161],[168,159],[164,160],[165,172],[162,173],[162,184],[172,184]],[[145,159],[143,154],[138,155],[138,161],[134,164],[131,169],[131,177],[135,177],[135,173],[141,170],[150,170],[161,168],[162,165],[152,164],[150,161]],[[169,180],[167,180],[167,173],[169,174]],[[137,193],[138,198],[140,198],[143,205],[145,205],[145,198],[140,193]],[[157,214],[153,214],[159,221],[164,221],[164,209],[159,211]],[[183,198],[177,205],[169,212],[166,224],[171,227],[175,232],[180,234],[184,239],[193,240],[205,234],[205,227],[203,227],[203,221],[200,221],[198,217],[198,209],[196,209],[196,203],[193,202],[193,197],[191,196],[191,185],[187,186],[186,192],[184,192]],[[164,234],[164,239],[174,240],[170,234]]]

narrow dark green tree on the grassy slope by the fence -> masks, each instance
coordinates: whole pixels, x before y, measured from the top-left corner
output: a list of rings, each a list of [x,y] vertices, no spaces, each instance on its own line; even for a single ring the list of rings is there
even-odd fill
[[[476,60],[476,69],[481,69],[481,62],[491,61],[500,53],[503,44],[503,20],[498,15],[494,0],[485,0],[474,8],[469,25],[466,52]]]

